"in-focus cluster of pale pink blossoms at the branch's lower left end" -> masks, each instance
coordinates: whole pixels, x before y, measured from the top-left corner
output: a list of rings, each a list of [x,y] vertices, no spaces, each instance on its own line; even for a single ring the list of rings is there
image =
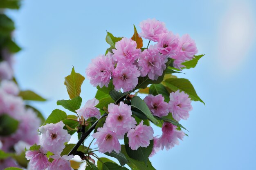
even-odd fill
[[[40,148],[38,150],[27,150],[26,152],[26,158],[30,160],[29,168],[31,170],[45,170],[46,168],[47,170],[72,170],[69,160],[74,156],[61,156],[65,143],[70,141],[71,137],[63,127],[64,123],[62,121],[40,126]],[[49,156],[53,159],[52,162],[49,161],[47,152],[54,154]]]

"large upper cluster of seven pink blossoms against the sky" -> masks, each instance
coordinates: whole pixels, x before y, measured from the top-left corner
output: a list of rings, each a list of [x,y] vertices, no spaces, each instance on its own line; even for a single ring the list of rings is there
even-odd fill
[[[182,63],[193,59],[198,52],[195,41],[188,34],[174,35],[164,22],[148,19],[142,21],[140,27],[141,37],[157,43],[141,50],[131,38],[124,37],[116,42],[112,53],[92,59],[86,69],[93,86],[108,87],[112,79],[115,90],[128,92],[136,87],[139,76],[148,76],[151,80],[162,76],[168,58],[173,58],[174,67],[181,69],[185,67]]]

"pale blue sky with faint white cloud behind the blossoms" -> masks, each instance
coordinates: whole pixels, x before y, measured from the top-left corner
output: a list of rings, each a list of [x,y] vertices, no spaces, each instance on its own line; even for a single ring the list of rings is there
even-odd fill
[[[64,77],[72,66],[85,76],[90,60],[104,54],[106,30],[131,37],[133,24],[156,18],[175,34],[190,34],[206,54],[184,75],[206,105],[193,102],[180,145],[150,158],[157,170],[256,169],[256,2],[253,0],[63,1],[26,0],[8,11],[16,22],[15,74],[22,89],[45,98],[33,103],[45,116],[68,99]],[[144,41],[147,44],[147,41]],[[85,79],[83,104],[96,88]],[[155,134],[161,129],[155,128]],[[75,139],[73,139],[75,140]],[[90,142],[89,140],[86,143]]]

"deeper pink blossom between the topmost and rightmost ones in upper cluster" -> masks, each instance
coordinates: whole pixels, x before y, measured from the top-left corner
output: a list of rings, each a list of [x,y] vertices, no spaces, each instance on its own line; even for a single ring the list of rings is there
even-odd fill
[[[178,47],[178,38],[173,35],[171,31],[162,34],[160,36],[159,42],[157,43],[157,48],[160,53],[173,56],[176,54],[176,48]]]

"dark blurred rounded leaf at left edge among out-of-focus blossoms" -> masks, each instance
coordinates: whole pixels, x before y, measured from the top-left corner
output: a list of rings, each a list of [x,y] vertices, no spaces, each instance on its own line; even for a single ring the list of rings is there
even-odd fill
[[[0,136],[9,136],[16,132],[19,122],[7,114],[0,116]]]

